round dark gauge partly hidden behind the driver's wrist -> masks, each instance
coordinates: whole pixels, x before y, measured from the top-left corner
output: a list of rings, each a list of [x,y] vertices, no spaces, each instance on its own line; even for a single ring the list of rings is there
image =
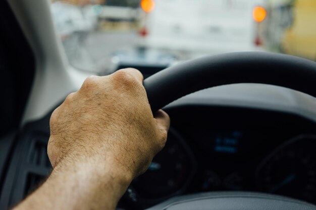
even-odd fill
[[[194,173],[194,159],[182,137],[173,129],[165,148],[158,153],[148,170],[132,186],[145,200],[166,198],[181,192]]]

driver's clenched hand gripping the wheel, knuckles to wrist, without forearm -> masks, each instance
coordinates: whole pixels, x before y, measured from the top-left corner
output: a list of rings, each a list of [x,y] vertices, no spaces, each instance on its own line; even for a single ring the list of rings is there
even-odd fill
[[[70,94],[50,118],[48,156],[53,167],[63,159],[114,159],[133,176],[143,173],[165,145],[168,115],[152,116],[143,76],[122,69],[92,76]]]

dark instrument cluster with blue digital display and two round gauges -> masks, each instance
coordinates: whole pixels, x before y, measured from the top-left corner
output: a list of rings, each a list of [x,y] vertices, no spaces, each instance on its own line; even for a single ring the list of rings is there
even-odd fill
[[[131,187],[145,203],[175,194],[257,191],[316,196],[314,124],[294,115],[219,106],[168,110],[166,147]]]

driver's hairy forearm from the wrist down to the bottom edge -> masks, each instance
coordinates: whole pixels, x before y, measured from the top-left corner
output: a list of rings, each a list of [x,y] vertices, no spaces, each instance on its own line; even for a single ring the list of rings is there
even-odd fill
[[[132,180],[129,172],[117,166],[98,158],[64,160],[14,209],[115,209]]]

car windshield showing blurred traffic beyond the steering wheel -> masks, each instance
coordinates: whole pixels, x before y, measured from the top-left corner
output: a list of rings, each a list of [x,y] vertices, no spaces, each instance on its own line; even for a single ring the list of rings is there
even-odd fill
[[[50,9],[69,62],[83,71],[232,51],[316,59],[315,0],[69,0]]]

